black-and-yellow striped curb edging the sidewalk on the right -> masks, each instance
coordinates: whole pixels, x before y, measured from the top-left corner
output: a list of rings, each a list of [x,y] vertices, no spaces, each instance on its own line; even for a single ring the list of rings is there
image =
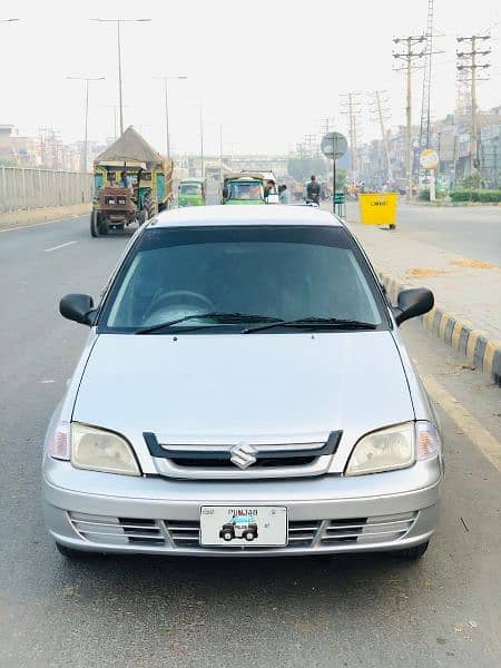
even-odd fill
[[[412,287],[382,272],[380,281],[393,304],[396,304],[401,289]],[[475,328],[472,323],[461,320],[440,304],[421,316],[421,322],[425,330],[463,355],[473,366],[489,374],[501,386],[501,341],[491,338],[487,332]]]

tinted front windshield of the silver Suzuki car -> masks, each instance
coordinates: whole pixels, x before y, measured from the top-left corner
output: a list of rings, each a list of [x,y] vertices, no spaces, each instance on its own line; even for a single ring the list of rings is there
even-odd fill
[[[151,227],[118,272],[98,327],[135,332],[189,316],[158,333],[217,334],[240,332],[246,314],[254,324],[313,317],[379,326],[381,313],[366,261],[341,226]]]

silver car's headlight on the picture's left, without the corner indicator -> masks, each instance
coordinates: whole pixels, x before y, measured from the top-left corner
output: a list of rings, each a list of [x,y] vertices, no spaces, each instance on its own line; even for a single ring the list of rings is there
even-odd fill
[[[77,469],[140,475],[129,443],[112,432],[71,423],[71,464]]]

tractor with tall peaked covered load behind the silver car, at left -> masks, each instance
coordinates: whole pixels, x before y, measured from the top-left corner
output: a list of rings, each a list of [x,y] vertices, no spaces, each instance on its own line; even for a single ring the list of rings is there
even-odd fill
[[[129,127],[96,158],[94,190],[91,236],[136,222],[143,225],[170,205],[173,161]]]

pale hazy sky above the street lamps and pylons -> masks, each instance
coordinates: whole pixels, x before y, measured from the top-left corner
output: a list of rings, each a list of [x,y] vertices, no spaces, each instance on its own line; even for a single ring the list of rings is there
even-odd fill
[[[91,18],[151,18],[121,30],[125,127],[134,125],[165,148],[163,82],[169,82],[171,150],[199,150],[200,104],[205,153],[279,154],[294,149],[322,119],[346,132],[342,95],[357,91],[361,139],[377,136],[371,91],[387,90],[389,126],[405,122],[405,76],[393,71],[393,37],[425,30],[428,0],[121,0],[109,3],[17,0],[0,3],[0,124],[38,135],[53,126],[65,143],[84,136],[84,82],[91,82],[89,138],[112,137],[118,104],[116,27]],[[499,0],[435,0],[432,116],[455,101],[455,37],[490,33],[490,80],[479,85],[479,106],[501,104]],[[118,11],[118,14],[116,13]],[[115,13],[114,13],[115,12]],[[413,76],[419,122],[422,71]]]

